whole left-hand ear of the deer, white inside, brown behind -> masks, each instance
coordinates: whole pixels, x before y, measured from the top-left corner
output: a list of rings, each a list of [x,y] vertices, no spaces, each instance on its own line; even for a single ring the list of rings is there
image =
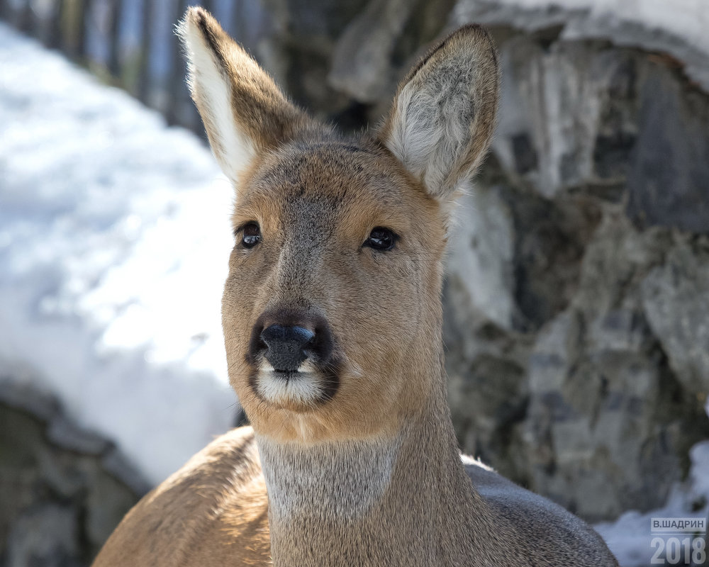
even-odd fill
[[[238,186],[264,150],[308,121],[206,10],[190,8],[177,33],[188,58],[187,83],[222,171]]]

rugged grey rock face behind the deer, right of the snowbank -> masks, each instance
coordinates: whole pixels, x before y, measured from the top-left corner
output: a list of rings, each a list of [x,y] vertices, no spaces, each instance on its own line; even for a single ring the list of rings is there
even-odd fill
[[[291,24],[297,4],[279,3]],[[708,54],[588,10],[355,4],[285,82],[332,91],[301,101],[345,128],[376,123],[447,29],[484,23],[500,48],[496,140],[445,284],[462,447],[590,520],[660,505],[709,437]]]

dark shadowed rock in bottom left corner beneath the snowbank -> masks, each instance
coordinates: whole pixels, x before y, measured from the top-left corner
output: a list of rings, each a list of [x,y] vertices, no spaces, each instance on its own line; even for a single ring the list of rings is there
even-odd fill
[[[89,565],[147,491],[121,456],[56,400],[0,379],[0,565]]]

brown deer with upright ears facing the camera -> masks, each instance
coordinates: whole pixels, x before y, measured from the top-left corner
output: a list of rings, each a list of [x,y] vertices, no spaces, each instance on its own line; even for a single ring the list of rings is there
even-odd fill
[[[250,426],[145,495],[94,566],[617,566],[583,520],[462,456],[452,426],[443,263],[496,122],[489,33],[433,46],[356,135],[204,9],[178,33],[235,190],[222,322]]]

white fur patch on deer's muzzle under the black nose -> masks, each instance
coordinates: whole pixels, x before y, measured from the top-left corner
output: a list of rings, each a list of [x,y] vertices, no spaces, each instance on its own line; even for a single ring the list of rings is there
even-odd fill
[[[306,366],[303,364],[298,371],[289,374],[287,379],[274,371],[272,366],[262,366],[256,379],[259,395],[276,404],[315,405],[323,391],[316,374]]]

